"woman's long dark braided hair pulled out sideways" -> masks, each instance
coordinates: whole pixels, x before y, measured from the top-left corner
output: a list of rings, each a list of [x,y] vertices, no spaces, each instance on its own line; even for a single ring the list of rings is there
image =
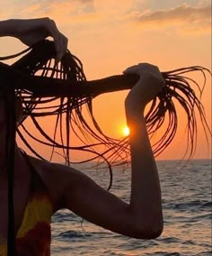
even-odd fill
[[[0,90],[4,92],[6,98],[8,120],[6,133],[8,183],[10,184],[8,249],[14,247],[12,220],[15,132],[18,133],[28,149],[42,160],[43,157],[33,149],[29,140],[26,139],[27,136],[31,140],[49,146],[52,150],[51,158],[59,150],[59,154],[64,157],[68,165],[75,163],[71,159],[70,151],[89,152],[91,157],[80,162],[100,160],[100,164],[106,163],[110,170],[110,185],[108,187],[110,189],[111,167],[129,161],[128,137],[118,140],[110,138],[102,132],[93,115],[92,100],[102,93],[130,89],[138,80],[137,75],[118,75],[87,81],[81,61],[69,50],[66,50],[66,55],[60,63],[55,62],[56,50],[52,41],[40,41],[21,53],[0,58],[0,60],[20,56],[22,58],[11,66],[0,62]],[[186,73],[194,71],[202,73],[203,87],[200,87],[194,79],[185,76]],[[207,73],[211,75],[209,69],[199,66],[162,72],[166,86],[153,99],[146,113],[146,127],[150,139],[166,125],[161,137],[152,145],[155,157],[168,147],[177,132],[179,116],[176,103],[181,105],[187,116],[187,147],[184,157],[190,159],[196,149],[197,113],[208,142],[208,135],[211,135],[211,131],[208,127],[204,106],[200,101],[206,85]],[[198,88],[199,96],[196,95],[191,85]],[[23,111],[22,118],[15,125],[14,102],[17,97],[22,100]],[[91,117],[90,123],[84,118],[83,105],[86,106]],[[55,117],[53,135],[50,135],[49,131],[45,132],[40,124],[40,119],[42,119],[40,117],[45,116]],[[27,117],[31,118],[31,123],[40,133],[40,139],[26,128],[23,121]],[[72,134],[78,138],[79,145],[71,144]],[[9,249],[8,255],[12,255],[10,253],[14,253],[13,249]]]

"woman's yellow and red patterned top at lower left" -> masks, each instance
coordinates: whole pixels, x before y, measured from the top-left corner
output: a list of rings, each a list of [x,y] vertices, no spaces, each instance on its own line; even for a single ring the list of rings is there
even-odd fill
[[[16,256],[49,256],[53,214],[52,203],[39,175],[33,171],[31,193],[22,224],[15,238]],[[6,242],[0,244],[0,256],[6,256]]]

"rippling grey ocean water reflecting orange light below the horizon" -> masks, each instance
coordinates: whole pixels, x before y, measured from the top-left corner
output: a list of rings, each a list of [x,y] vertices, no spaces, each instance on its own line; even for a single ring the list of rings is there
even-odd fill
[[[163,197],[163,234],[137,240],[111,233],[67,210],[52,218],[51,255],[58,256],[209,256],[211,251],[211,160],[157,161]],[[83,170],[85,167],[82,168]],[[107,169],[84,170],[102,187]],[[130,171],[113,170],[110,191],[128,202]]]

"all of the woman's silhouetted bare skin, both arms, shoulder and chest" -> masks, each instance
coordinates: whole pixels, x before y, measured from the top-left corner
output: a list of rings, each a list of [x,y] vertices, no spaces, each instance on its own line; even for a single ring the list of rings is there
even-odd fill
[[[57,50],[57,61],[66,52],[67,39],[49,18],[8,20],[0,22],[0,36],[13,36],[31,45],[51,36]],[[125,100],[125,111],[130,129],[131,195],[129,204],[99,187],[91,178],[70,167],[31,158],[36,171],[49,190],[54,212],[67,208],[93,224],[115,233],[138,239],[153,239],[163,232],[161,188],[155,158],[146,131],[144,111],[164,86],[157,67],[148,63],[130,67],[124,73],[140,76]],[[5,108],[0,101],[0,244],[7,237],[7,177],[5,171]],[[14,166],[15,233],[29,197],[31,172],[17,145]],[[2,225],[3,224],[3,225]]]

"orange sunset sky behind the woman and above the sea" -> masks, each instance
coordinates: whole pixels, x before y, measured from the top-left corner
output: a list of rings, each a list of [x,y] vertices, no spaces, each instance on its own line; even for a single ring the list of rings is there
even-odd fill
[[[195,65],[211,69],[208,0],[1,0],[0,20],[39,17],[49,17],[57,23],[69,40],[68,49],[84,63],[87,79],[121,74],[140,62],[152,63],[162,71]],[[20,41],[9,37],[1,38],[0,46],[0,56],[25,49]],[[194,78],[203,83],[200,74]],[[126,126],[127,94],[128,91],[112,93],[93,100],[102,130],[115,138],[123,136],[122,128]],[[209,77],[202,103],[211,127]],[[184,116],[180,119],[178,136],[159,160],[181,159],[185,151]],[[211,158],[200,126],[198,131],[194,158]]]

